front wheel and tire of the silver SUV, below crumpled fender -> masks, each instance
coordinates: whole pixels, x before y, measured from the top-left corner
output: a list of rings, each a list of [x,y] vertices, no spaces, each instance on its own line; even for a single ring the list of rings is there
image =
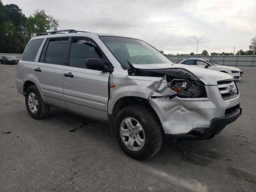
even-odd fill
[[[130,120],[132,124],[128,127],[126,121],[130,122]],[[140,126],[142,126],[143,131]],[[135,128],[135,130],[132,128]],[[138,131],[139,129],[140,131]],[[137,160],[145,160],[154,156],[159,152],[163,143],[162,128],[155,114],[150,108],[142,105],[131,105],[120,110],[115,118],[114,130],[120,148],[128,156]],[[128,146],[130,140],[135,140],[132,145],[133,149]],[[130,144],[132,143],[130,142]]]

